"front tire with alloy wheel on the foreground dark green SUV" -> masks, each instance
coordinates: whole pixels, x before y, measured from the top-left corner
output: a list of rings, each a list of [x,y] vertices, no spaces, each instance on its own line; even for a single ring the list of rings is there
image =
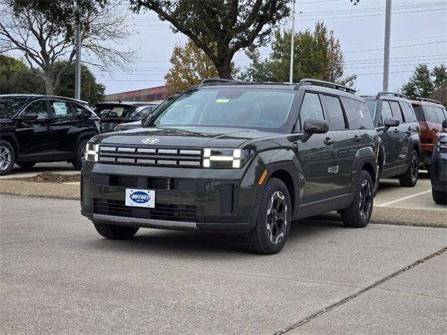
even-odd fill
[[[291,211],[286,185],[280,179],[269,179],[261,195],[256,226],[247,237],[251,251],[264,255],[279,253],[291,230]]]

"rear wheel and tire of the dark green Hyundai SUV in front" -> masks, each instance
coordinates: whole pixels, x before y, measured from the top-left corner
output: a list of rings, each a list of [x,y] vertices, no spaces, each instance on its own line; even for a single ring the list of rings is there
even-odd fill
[[[342,221],[347,227],[363,228],[369,223],[374,203],[374,185],[371,176],[365,170],[360,170],[357,176],[354,200],[346,209],[340,211]]]

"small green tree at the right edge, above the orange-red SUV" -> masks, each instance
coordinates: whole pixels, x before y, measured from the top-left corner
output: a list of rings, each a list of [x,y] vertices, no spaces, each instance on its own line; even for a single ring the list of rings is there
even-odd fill
[[[447,104],[447,68],[444,64],[434,66],[432,71],[427,64],[416,66],[409,82],[402,87],[402,93],[411,99],[417,97],[434,98]]]

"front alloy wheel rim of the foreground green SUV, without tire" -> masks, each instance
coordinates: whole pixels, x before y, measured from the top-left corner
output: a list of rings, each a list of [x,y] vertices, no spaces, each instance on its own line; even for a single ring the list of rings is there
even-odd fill
[[[284,193],[276,191],[272,194],[267,209],[267,233],[273,244],[278,244],[284,237],[287,222],[287,200]]]

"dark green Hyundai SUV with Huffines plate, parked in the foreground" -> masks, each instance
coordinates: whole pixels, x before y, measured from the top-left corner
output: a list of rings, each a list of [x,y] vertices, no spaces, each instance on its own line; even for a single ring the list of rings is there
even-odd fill
[[[242,232],[264,254],[298,218],[338,210],[365,227],[379,140],[355,93],[310,79],[204,80],[145,128],[89,141],[82,215],[110,239],[140,227]]]

